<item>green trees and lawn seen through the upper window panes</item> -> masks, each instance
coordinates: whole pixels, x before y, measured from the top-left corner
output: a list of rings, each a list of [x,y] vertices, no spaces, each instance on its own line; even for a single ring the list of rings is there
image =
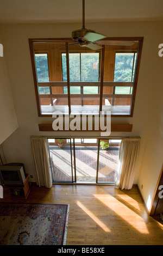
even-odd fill
[[[135,54],[136,55],[136,54]],[[67,81],[66,53],[61,55],[62,81]],[[48,59],[46,54],[35,54],[38,82],[49,82]],[[99,53],[70,53],[70,82],[99,81]],[[134,53],[116,53],[114,82],[132,82],[135,74]],[[131,88],[132,89],[132,88]],[[40,94],[49,94],[49,87],[40,87]],[[64,87],[67,94],[67,87]],[[80,94],[80,86],[70,87],[71,94]],[[84,87],[84,94],[97,94],[98,87]],[[130,87],[116,87],[116,94],[130,94]]]

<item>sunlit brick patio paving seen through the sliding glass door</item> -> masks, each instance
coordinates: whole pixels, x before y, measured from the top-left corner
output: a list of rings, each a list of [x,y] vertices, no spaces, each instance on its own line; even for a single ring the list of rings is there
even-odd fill
[[[96,183],[97,147],[76,147],[75,153],[77,182]],[[50,154],[54,166],[53,180],[72,181],[70,148],[53,146]],[[111,148],[99,151],[98,182],[115,182],[118,154],[119,150]]]

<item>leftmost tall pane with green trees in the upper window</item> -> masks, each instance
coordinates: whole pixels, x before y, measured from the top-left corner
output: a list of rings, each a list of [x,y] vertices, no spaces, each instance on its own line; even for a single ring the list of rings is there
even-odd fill
[[[49,82],[47,53],[35,53],[38,82]]]

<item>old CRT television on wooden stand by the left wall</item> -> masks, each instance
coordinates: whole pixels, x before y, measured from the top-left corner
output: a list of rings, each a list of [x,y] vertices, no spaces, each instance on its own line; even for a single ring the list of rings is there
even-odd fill
[[[0,166],[0,179],[3,184],[23,184],[26,181],[24,164],[9,163]]]

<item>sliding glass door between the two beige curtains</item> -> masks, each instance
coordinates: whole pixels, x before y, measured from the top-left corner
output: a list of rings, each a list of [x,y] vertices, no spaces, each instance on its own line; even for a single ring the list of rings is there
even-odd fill
[[[121,139],[48,138],[53,182],[114,183]]]

